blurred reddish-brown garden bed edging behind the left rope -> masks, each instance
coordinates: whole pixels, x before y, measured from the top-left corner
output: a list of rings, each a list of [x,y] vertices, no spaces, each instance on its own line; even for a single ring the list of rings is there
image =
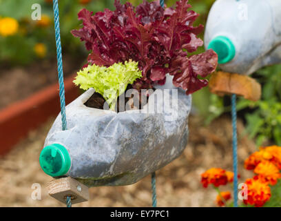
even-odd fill
[[[79,96],[73,84],[74,75],[65,79],[65,102],[69,104]],[[36,129],[61,111],[59,84],[52,84],[34,95],[0,110],[0,155],[4,155],[28,132]]]

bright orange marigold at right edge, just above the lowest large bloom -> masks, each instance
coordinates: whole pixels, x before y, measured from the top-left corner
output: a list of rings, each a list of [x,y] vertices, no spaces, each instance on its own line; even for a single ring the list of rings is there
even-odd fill
[[[277,180],[281,177],[278,167],[269,161],[260,162],[253,172],[264,177],[271,185],[275,185]]]

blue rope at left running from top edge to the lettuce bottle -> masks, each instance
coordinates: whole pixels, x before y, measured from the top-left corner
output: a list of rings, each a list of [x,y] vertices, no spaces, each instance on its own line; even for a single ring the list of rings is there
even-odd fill
[[[56,59],[58,63],[58,77],[59,77],[59,97],[61,102],[61,121],[63,131],[66,130],[66,115],[65,115],[65,88],[63,84],[63,59],[61,56],[61,31],[59,28],[59,6],[58,0],[53,0],[54,10],[54,30],[56,35]]]

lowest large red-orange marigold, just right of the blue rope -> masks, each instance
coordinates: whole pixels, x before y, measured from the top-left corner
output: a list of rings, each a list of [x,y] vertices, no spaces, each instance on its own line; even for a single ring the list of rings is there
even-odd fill
[[[263,182],[259,176],[247,179],[247,199],[243,200],[244,204],[250,204],[256,207],[263,206],[271,198],[271,189],[267,182]],[[242,189],[244,189],[242,187]],[[242,193],[244,196],[244,192]]]

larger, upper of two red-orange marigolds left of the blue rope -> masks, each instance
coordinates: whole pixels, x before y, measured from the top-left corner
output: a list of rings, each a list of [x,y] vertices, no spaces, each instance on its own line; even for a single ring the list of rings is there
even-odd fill
[[[224,169],[211,168],[205,173],[202,173],[201,177],[201,183],[205,188],[207,188],[209,184],[214,184],[214,186],[227,184],[227,174]]]

